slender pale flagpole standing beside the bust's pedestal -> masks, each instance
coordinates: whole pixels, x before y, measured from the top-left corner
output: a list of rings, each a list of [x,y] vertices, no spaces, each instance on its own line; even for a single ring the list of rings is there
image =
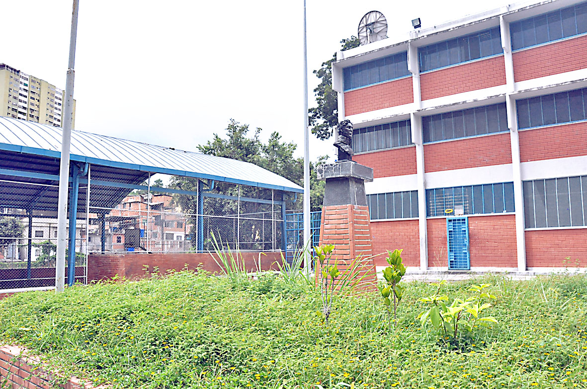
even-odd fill
[[[306,42],[306,0],[303,0],[303,245],[310,248],[310,135],[308,131],[308,43]],[[310,251],[304,253],[303,267],[310,271]]]

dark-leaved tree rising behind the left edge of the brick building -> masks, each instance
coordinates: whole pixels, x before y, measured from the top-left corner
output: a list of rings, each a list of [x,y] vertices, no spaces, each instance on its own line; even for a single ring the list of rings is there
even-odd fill
[[[340,43],[342,43],[343,51],[360,45],[359,38],[354,35],[341,40]],[[323,62],[320,69],[313,71],[321,80],[320,84],[314,88],[318,107],[310,108],[308,113],[312,134],[318,139],[330,138],[334,127],[338,124],[338,94],[332,89],[332,63],[335,61],[336,53],[328,61]]]

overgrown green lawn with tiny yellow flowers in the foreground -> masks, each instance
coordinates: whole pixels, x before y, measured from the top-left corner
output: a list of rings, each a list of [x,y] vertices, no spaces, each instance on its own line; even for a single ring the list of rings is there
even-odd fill
[[[14,295],[0,301],[0,341],[120,388],[587,388],[587,277],[443,288],[467,296],[481,282],[498,324],[456,347],[416,319],[436,291],[421,282],[404,284],[390,330],[375,293],[339,298],[326,326],[306,286],[193,272]]]

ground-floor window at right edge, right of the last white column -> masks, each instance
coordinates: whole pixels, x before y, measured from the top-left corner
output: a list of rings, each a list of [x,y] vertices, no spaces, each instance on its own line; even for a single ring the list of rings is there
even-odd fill
[[[587,226],[587,176],[524,181],[526,228]]]

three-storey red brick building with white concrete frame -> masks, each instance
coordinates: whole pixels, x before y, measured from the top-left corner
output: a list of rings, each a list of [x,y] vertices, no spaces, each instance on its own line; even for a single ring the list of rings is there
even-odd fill
[[[509,5],[339,52],[333,88],[353,159],[374,170],[375,254],[587,268],[587,2]]]

